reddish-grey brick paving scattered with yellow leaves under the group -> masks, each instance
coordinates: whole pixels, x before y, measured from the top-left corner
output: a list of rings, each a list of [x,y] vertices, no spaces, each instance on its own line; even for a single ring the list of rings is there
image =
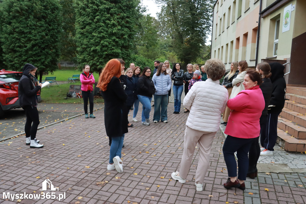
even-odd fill
[[[39,194],[42,182],[49,178],[54,187],[59,187],[59,191],[52,192],[65,193],[65,199],[33,198],[19,202],[306,203],[305,173],[259,173],[258,178],[247,179],[245,191],[225,189],[222,186],[227,180],[222,154],[225,137],[221,131],[217,132],[212,145],[203,191],[197,192],[194,185],[197,148],[188,182],[181,184],[171,180],[171,173],[181,161],[188,117],[188,113],[172,114],[173,111],[173,103],[169,103],[168,123],[151,122],[150,126],[143,126],[137,122],[129,128],[122,149],[123,173],[106,169],[109,146],[103,109],[95,111],[96,119],[77,116],[39,129],[38,139],[45,145],[42,149],[30,149],[24,144],[24,136],[5,140],[0,143],[0,191]],[[152,115],[153,111],[151,118]],[[137,119],[140,117],[141,111]],[[11,200],[0,197],[1,203],[17,202],[17,199]]]

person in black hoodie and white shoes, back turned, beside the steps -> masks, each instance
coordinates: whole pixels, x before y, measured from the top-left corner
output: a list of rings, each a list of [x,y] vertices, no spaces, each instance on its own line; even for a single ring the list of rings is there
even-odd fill
[[[268,106],[266,139],[260,155],[273,155],[274,145],[277,138],[277,119],[285,105],[286,81],[284,79],[285,66],[278,62],[269,63],[271,66],[272,94]]]

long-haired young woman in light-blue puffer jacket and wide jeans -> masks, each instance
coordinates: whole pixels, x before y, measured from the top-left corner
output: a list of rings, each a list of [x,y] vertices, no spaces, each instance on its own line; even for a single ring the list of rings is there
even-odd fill
[[[160,63],[157,72],[152,77],[155,86],[153,123],[158,123],[159,120],[168,123],[168,92],[171,89],[172,82],[166,68],[166,64]]]

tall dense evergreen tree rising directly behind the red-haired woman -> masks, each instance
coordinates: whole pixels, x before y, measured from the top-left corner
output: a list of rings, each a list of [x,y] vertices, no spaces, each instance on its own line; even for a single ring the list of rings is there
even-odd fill
[[[75,0],[79,67],[100,71],[112,58],[129,61],[141,17],[140,0]]]

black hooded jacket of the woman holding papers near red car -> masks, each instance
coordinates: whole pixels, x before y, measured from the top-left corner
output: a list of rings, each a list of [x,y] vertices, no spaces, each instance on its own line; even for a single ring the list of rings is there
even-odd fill
[[[37,105],[37,95],[36,93],[41,89],[40,86],[33,84],[30,76],[30,71],[33,70],[35,66],[32,64],[25,64],[23,67],[23,75],[19,81],[18,85],[18,97],[19,106],[24,107],[26,105],[36,106]]]

